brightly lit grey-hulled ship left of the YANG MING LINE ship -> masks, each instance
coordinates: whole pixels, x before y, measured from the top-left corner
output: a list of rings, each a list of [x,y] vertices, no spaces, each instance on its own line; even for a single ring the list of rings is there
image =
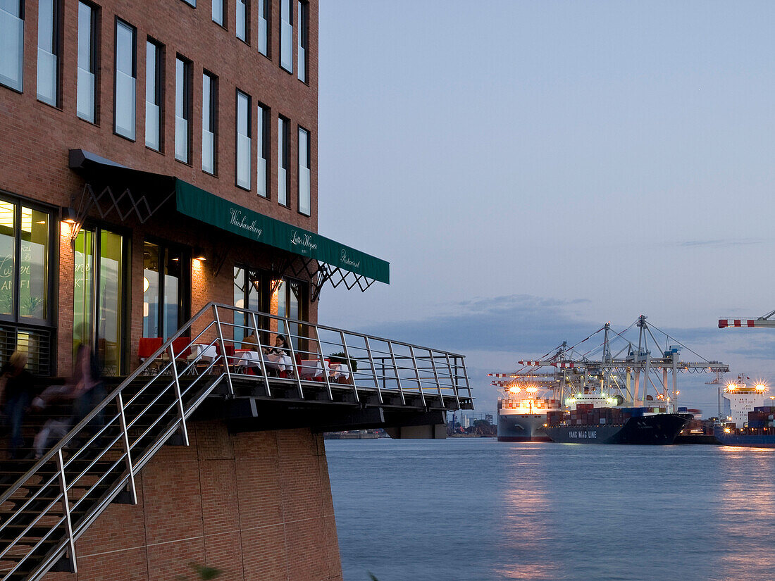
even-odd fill
[[[498,442],[549,442],[546,416],[560,411],[553,388],[515,381],[498,398]]]

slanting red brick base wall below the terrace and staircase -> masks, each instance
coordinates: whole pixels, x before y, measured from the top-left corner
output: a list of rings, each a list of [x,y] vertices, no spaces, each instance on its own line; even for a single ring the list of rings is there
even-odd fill
[[[229,435],[189,426],[191,446],[167,446],[140,474],[136,506],[113,504],[77,542],[77,574],[47,581],[342,579],[322,435]]]

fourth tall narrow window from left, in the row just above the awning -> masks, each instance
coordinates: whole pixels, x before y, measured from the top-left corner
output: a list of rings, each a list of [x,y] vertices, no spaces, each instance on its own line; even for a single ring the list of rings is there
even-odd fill
[[[115,127],[121,136],[135,139],[136,29],[115,21]]]

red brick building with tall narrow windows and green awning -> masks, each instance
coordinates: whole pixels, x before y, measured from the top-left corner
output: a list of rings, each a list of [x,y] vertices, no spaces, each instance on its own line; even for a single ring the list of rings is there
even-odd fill
[[[315,322],[327,280],[387,282],[317,234],[317,101],[317,0],[0,0],[0,361],[126,376],[209,301]],[[341,577],[320,435],[188,437],[47,578]]]

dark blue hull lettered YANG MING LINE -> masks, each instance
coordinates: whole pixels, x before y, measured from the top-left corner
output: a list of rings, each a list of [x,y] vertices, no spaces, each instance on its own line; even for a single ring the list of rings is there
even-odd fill
[[[558,425],[545,428],[553,442],[563,444],[672,444],[691,414],[653,414],[629,418],[622,425]]]

